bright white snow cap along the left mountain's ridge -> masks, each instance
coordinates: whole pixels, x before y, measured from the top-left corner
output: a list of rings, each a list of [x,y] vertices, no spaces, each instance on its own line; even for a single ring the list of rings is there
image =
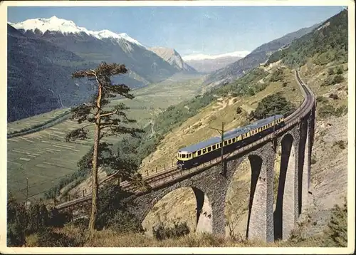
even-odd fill
[[[117,40],[130,41],[130,43],[135,43],[138,46],[145,47],[134,38],[128,36],[127,33],[114,33],[107,29],[101,31],[90,31],[87,28],[76,26],[73,21],[59,19],[56,16],[52,16],[49,19],[27,19],[26,21],[16,24],[9,22],[9,24],[14,26],[16,29],[22,29],[24,31],[35,32],[36,29],[38,29],[38,31],[41,31],[42,34],[46,33],[46,31],[55,31],[63,33],[64,35],[68,33],[86,33],[88,36],[94,36],[100,40],[103,38],[115,38]]]

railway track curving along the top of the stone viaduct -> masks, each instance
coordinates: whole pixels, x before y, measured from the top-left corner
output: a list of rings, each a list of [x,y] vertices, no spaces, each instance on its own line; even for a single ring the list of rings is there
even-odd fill
[[[256,142],[252,142],[251,144],[248,144],[239,150],[235,150],[234,152],[231,152],[227,155],[224,155],[224,160],[229,159],[231,157],[234,157],[236,155],[241,154],[242,152],[245,152],[246,150],[250,150],[252,147],[255,147],[256,145],[260,145],[263,142],[266,141],[272,141],[275,137],[275,135],[280,135],[284,131],[288,130],[290,127],[293,125],[296,125],[297,123],[300,123],[300,120],[305,117],[305,115],[308,115],[310,113],[310,110],[313,108],[313,105],[315,104],[315,97],[313,93],[311,92],[310,88],[308,88],[305,83],[303,83],[303,80],[300,79],[298,71],[295,71],[295,78],[298,80],[298,83],[300,85],[300,90],[304,95],[304,100],[303,102],[299,105],[297,110],[295,110],[294,113],[291,115],[288,115],[285,118],[285,123],[286,125],[282,127],[281,129],[277,130],[275,134],[270,134],[266,135],[264,137],[261,137],[261,139],[257,140]],[[188,176],[192,175],[197,175],[197,173],[202,172],[206,170],[207,168],[210,168],[211,166],[218,165],[221,162],[221,158],[216,158],[214,160],[211,160],[209,162],[205,162],[204,164],[198,165],[197,167],[191,168],[189,170],[179,170],[176,166],[169,167],[164,170],[159,170],[157,171],[154,175],[146,175],[142,179],[150,185],[152,189],[155,189],[157,187],[160,187],[162,185],[169,184],[171,182],[177,182],[179,179],[185,179]],[[106,177],[102,182],[100,182],[100,185],[108,182],[112,179],[115,179],[115,175],[117,172],[114,174]],[[136,195],[143,194],[146,191],[142,191],[134,187],[130,182],[121,182],[120,186],[122,189],[125,189],[127,192],[132,192]],[[57,209],[65,209],[67,207],[73,206],[78,203],[82,202],[87,202],[91,199],[91,194],[85,197],[80,197],[78,199],[74,199],[68,202],[64,202],[62,204],[58,204],[56,206]]]

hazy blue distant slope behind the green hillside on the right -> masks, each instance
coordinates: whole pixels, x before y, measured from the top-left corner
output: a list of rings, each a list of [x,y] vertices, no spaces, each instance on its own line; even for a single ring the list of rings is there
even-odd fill
[[[236,78],[243,76],[244,73],[256,68],[259,64],[266,62],[268,57],[274,51],[277,51],[283,46],[287,46],[288,43],[291,43],[295,38],[300,38],[306,33],[313,31],[313,29],[318,26],[319,24],[315,24],[314,26],[310,26],[308,28],[301,28],[298,31],[288,33],[281,38],[259,46],[239,61],[231,63],[229,66],[226,66],[226,68],[211,73],[210,76],[208,76],[204,81],[204,85],[214,87],[216,85],[224,85],[236,80]]]

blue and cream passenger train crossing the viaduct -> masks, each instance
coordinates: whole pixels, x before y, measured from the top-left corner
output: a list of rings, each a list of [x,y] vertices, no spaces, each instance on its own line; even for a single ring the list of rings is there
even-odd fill
[[[221,147],[224,147],[224,154],[233,152],[265,135],[271,134],[273,130],[278,130],[284,125],[283,115],[273,115],[245,127],[238,127],[224,132],[224,146],[222,146],[221,137],[219,136],[211,137],[209,140],[195,145],[189,145],[178,151],[177,167],[181,170],[186,170],[214,160],[216,157],[221,157]]]

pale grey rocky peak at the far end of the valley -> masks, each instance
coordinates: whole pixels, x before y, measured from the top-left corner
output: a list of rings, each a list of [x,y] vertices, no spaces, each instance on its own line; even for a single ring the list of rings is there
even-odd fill
[[[171,66],[174,66],[181,71],[197,72],[192,66],[187,65],[187,63],[183,61],[182,56],[180,56],[173,48],[152,47],[148,49],[170,63]]]

